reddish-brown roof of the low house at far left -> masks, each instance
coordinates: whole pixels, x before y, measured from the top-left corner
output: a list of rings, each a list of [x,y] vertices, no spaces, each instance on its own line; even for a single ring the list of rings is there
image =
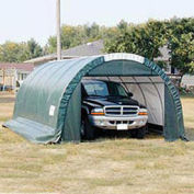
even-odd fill
[[[34,65],[33,64],[10,64],[10,62],[0,62],[0,69],[16,69],[23,71],[33,71]]]

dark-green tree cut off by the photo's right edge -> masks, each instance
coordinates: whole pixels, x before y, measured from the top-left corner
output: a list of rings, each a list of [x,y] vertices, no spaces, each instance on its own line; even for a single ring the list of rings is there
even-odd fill
[[[185,73],[194,73],[194,19],[172,19],[168,27],[171,66],[180,71],[182,80]]]

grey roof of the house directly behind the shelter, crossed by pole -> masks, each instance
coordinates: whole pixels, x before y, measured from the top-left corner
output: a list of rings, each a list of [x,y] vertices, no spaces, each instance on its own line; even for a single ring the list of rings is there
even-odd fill
[[[77,57],[83,57],[83,56],[94,56],[94,55],[102,55],[104,49],[104,44],[102,39],[82,44],[66,50],[61,52],[61,58],[68,59],[68,58],[77,58]],[[44,64],[49,60],[56,60],[57,54],[50,54],[43,57],[30,59],[25,62],[33,62],[34,65]]]

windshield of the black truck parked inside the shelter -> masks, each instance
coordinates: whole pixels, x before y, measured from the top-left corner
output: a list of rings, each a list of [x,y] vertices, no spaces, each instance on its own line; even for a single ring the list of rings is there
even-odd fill
[[[84,82],[84,90],[88,95],[94,96],[128,96],[125,89],[115,82]]]

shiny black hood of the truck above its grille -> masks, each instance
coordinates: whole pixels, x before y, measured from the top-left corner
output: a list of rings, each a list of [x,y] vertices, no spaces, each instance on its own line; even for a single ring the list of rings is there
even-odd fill
[[[101,96],[88,96],[84,100],[84,103],[91,103],[95,106],[105,106],[105,105],[137,105],[140,104],[130,98],[119,98],[119,96],[107,96],[107,98],[101,98]]]

